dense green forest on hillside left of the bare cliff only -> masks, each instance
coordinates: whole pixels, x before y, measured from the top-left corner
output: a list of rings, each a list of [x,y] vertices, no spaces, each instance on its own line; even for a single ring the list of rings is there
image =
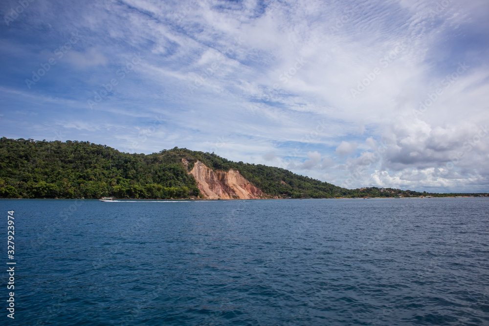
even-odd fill
[[[199,189],[178,157],[121,153],[89,142],[0,139],[0,196],[181,198]]]

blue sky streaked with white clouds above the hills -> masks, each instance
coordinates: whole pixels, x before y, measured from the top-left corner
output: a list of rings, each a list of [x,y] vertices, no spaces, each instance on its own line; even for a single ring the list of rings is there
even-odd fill
[[[0,4],[1,136],[489,192],[489,2]]]

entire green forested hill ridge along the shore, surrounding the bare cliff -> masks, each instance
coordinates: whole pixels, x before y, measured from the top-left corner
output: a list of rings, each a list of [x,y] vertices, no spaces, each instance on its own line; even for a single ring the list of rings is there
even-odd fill
[[[188,170],[182,158],[189,162]],[[0,197],[3,198],[188,198],[200,196],[188,171],[200,160],[213,170],[237,169],[269,196],[395,197],[447,196],[376,187],[349,190],[290,171],[232,162],[187,149],[149,155],[119,152],[78,141],[0,139]],[[459,196],[469,194],[457,194]]]

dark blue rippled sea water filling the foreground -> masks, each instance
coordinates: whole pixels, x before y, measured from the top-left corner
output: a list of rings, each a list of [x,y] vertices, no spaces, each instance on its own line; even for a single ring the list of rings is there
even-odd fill
[[[2,325],[489,325],[487,198],[0,207]]]

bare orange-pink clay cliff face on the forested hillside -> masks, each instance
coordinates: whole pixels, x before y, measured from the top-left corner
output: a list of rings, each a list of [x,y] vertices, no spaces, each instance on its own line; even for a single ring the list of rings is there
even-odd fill
[[[182,159],[185,166],[188,162]],[[197,161],[189,172],[197,180],[197,187],[205,199],[259,199],[265,194],[253,186],[238,170],[212,171]]]

